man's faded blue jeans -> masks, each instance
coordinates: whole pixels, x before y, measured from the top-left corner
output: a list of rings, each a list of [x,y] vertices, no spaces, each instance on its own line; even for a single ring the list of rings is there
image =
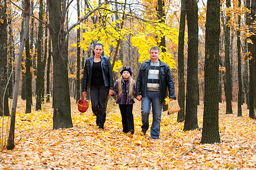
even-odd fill
[[[141,100],[141,120],[142,132],[146,133],[149,129],[150,104],[152,104],[153,121],[150,129],[150,135],[153,139],[158,139],[160,134],[160,122],[162,113],[162,102],[159,92],[146,91],[146,95]]]

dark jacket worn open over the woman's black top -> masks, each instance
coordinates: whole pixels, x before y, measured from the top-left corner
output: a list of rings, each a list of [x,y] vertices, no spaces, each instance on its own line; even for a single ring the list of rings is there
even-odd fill
[[[93,70],[93,57],[87,58],[85,62],[85,68],[83,69],[83,91],[87,91],[87,86],[91,87],[91,73]],[[112,75],[112,66],[108,57],[100,56],[102,75],[104,79],[104,85],[111,89],[114,89],[114,81]]]

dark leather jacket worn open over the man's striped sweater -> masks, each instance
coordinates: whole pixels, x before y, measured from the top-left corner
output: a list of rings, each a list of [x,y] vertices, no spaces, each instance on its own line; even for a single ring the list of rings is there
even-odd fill
[[[136,96],[141,95],[144,97],[146,95],[146,83],[148,82],[150,61],[151,60],[149,59],[148,61],[143,62],[140,66],[140,71],[136,83]],[[165,101],[167,88],[169,91],[169,98],[176,99],[174,82],[173,77],[171,76],[170,67],[160,59],[159,61],[160,101]]]

